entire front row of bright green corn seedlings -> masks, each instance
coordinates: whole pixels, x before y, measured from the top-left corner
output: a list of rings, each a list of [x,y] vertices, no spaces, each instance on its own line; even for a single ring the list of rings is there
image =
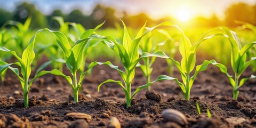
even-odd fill
[[[28,19],[28,22],[30,19]],[[9,68],[15,75],[18,76],[22,90],[23,90],[23,99],[24,99],[24,107],[28,107],[28,94],[32,83],[35,81],[36,78],[41,77],[45,74],[53,74],[64,77],[69,85],[73,89],[74,94],[74,102],[78,101],[78,90],[82,86],[82,81],[84,76],[86,75],[87,71],[90,71],[96,65],[108,65],[111,68],[117,70],[121,75],[123,82],[116,81],[114,79],[107,79],[105,82],[102,82],[98,86],[98,91],[100,91],[101,85],[109,82],[114,82],[122,87],[125,93],[125,101],[126,107],[131,106],[131,100],[140,90],[147,88],[150,89],[150,85],[154,84],[158,81],[163,80],[174,80],[180,86],[182,92],[185,95],[185,99],[189,100],[190,97],[190,90],[193,86],[196,76],[198,75],[199,71],[206,70],[209,64],[215,65],[219,67],[222,73],[225,73],[228,76],[230,84],[233,86],[233,98],[237,100],[238,97],[238,88],[241,87],[247,79],[255,78],[254,75],[251,75],[249,78],[240,78],[243,71],[251,65],[251,63],[255,63],[256,58],[251,57],[250,49],[253,47],[256,42],[251,42],[245,44],[243,47],[237,34],[234,31],[231,31],[227,27],[217,27],[213,28],[207,33],[203,34],[193,45],[190,42],[190,39],[183,33],[183,31],[174,23],[172,22],[163,22],[159,25],[154,27],[146,27],[143,25],[138,34],[135,36],[134,39],[131,39],[129,31],[127,30],[125,23],[123,23],[123,37],[122,39],[118,38],[116,40],[113,36],[102,36],[95,33],[95,31],[100,28],[103,23],[94,29],[85,30],[81,25],[76,23],[69,23],[63,22],[61,18],[55,18],[60,23],[60,30],[53,31],[47,28],[38,30],[35,35],[30,39],[27,47],[25,50],[22,50],[22,53],[17,53],[16,51],[9,50],[4,45],[6,45],[6,41],[8,38],[2,38],[0,51],[5,53],[12,54],[16,59],[17,62],[7,63],[0,61],[0,74],[6,73],[6,70]],[[17,23],[18,24],[18,23]],[[27,26],[25,23],[24,26]],[[74,28],[75,35],[69,34],[69,26]],[[160,27],[172,27],[179,32],[180,42],[179,45],[173,45],[173,37],[170,36],[170,33],[162,29]],[[158,33],[163,34],[166,39],[164,42],[159,42],[156,46],[152,45],[153,36],[152,31],[157,30]],[[49,62],[45,62],[41,65],[36,73],[35,76],[29,81],[31,75],[31,63],[36,57],[34,52],[34,47],[37,46],[36,38],[39,36],[39,33],[42,31],[47,31],[55,36],[55,41],[57,45],[50,44],[48,46],[42,47],[41,50],[44,51],[49,49],[49,47],[57,47],[55,53],[59,54],[58,51],[62,50],[63,54],[58,55],[55,58],[50,58]],[[1,31],[1,36],[5,34],[5,30]],[[212,39],[216,36],[220,36],[221,38],[227,38],[230,45],[231,45],[231,67],[234,71],[234,76],[229,75],[227,71],[227,67],[221,63],[216,62],[215,60],[205,60],[201,65],[196,66],[196,51],[199,45],[206,40]],[[5,40],[6,39],[6,40]],[[121,60],[121,63],[124,67],[124,70],[119,69],[117,66],[114,66],[111,62],[91,62],[90,65],[85,70],[85,58],[87,55],[92,51],[93,47],[97,44],[103,43],[106,47],[109,47],[110,50],[113,50],[117,57]],[[206,42],[209,43],[209,42]],[[159,46],[167,44],[170,46],[169,55],[166,55],[163,51],[159,50]],[[23,45],[23,44],[22,44]],[[19,45],[18,45],[19,46]],[[179,52],[182,56],[181,61],[174,60],[174,54],[177,52],[175,47],[179,47]],[[251,58],[248,58],[251,57]],[[153,68],[151,67],[155,62],[156,57],[165,58],[167,62],[172,62],[172,64],[178,69],[181,75],[181,81],[178,78],[173,76],[166,76],[160,75],[154,81],[151,81],[150,75],[152,73]],[[63,58],[63,59],[62,59]],[[143,64],[140,62],[143,61]],[[54,67],[51,71],[43,70],[46,66],[51,65],[52,63],[60,62],[66,63],[67,68],[70,71],[71,76],[65,75],[62,73],[62,66]],[[17,65],[20,67],[20,70],[17,68],[12,67],[12,65]],[[62,65],[62,64],[61,64]],[[171,64],[170,64],[171,65]],[[142,73],[146,77],[146,84],[141,85],[135,90],[133,93],[131,92],[131,86],[133,79],[135,77],[135,67],[140,67]],[[191,75],[191,72],[195,70],[194,75]],[[21,74],[19,73],[21,72]]]

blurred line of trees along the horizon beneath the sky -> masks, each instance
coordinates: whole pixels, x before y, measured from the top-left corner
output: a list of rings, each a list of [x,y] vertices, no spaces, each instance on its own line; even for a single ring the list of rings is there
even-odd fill
[[[111,7],[105,7],[102,5],[97,5],[94,7],[90,15],[85,15],[81,10],[75,9],[69,14],[62,13],[61,10],[54,10],[49,15],[44,15],[42,12],[36,9],[34,4],[31,3],[21,3],[16,6],[13,12],[9,12],[0,9],[0,26],[3,25],[8,20],[15,20],[20,22],[25,22],[27,17],[31,15],[32,22],[31,28],[59,28],[57,21],[52,20],[52,17],[59,16],[63,17],[65,22],[76,22],[81,23],[86,29],[94,28],[103,21],[106,20],[104,27],[115,27],[115,23],[119,22],[119,19],[124,20],[127,26],[138,28],[141,27],[145,21],[148,25],[155,25],[163,21],[174,21],[173,18],[166,17],[158,20],[150,19],[146,14],[140,13],[137,15],[129,15],[126,12],[118,13],[116,15],[115,9]],[[228,7],[225,12],[225,19],[220,20],[217,15],[213,14],[210,18],[198,17],[190,21],[190,25],[196,27],[215,27],[220,25],[226,25],[229,27],[238,26],[234,21],[244,21],[256,25],[256,5],[248,5],[245,3],[233,4]],[[177,21],[178,22],[178,21]],[[192,22],[192,23],[191,23]],[[102,26],[103,27],[103,26]]]

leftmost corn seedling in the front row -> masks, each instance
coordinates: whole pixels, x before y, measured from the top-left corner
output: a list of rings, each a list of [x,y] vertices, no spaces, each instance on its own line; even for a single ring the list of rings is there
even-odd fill
[[[6,63],[4,61],[0,61],[0,74],[2,74],[7,68],[11,69],[15,75],[18,76],[22,90],[23,90],[23,98],[24,98],[24,107],[28,107],[28,93],[29,89],[31,87],[31,84],[34,82],[34,80],[39,77],[38,74],[35,75],[35,78],[31,79],[29,82],[29,76],[31,74],[31,63],[35,58],[35,52],[34,52],[34,44],[35,44],[35,38],[37,33],[39,33],[41,30],[38,30],[36,34],[31,38],[27,48],[23,51],[22,57],[20,58],[15,51],[11,51],[9,49],[6,49],[3,46],[0,46],[0,51],[11,53],[14,55],[14,57],[18,60],[18,62],[14,63]],[[19,74],[19,70],[17,68],[12,68],[12,65],[17,65],[21,68],[21,75]]]

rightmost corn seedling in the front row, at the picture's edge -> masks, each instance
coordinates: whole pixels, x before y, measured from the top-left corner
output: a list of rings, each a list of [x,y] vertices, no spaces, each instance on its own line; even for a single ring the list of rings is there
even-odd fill
[[[256,76],[251,75],[248,78],[240,79],[244,70],[250,66],[251,63],[255,63],[256,57],[250,58],[247,60],[247,52],[251,49],[251,47],[256,44],[256,42],[247,43],[243,47],[241,46],[241,42],[237,34],[234,31],[229,30],[227,27],[217,27],[215,29],[223,30],[224,34],[221,35],[227,37],[231,44],[231,67],[234,71],[235,76],[231,76],[227,72],[227,67],[224,65],[217,65],[222,73],[225,73],[228,76],[230,84],[233,86],[233,99],[237,100],[239,94],[239,87],[241,87],[248,79],[256,78]]]

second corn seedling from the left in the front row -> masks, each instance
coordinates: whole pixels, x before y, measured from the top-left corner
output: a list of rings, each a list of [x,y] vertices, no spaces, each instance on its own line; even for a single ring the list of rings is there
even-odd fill
[[[85,51],[90,49],[91,46],[94,45],[92,41],[93,38],[100,38],[98,36],[93,36],[93,33],[95,30],[97,30],[99,27],[101,27],[103,23],[94,29],[89,29],[86,30],[80,39],[76,41],[76,43],[73,46],[70,46],[70,43],[67,39],[67,37],[62,34],[59,31],[52,31],[47,28],[43,29],[46,31],[50,31],[52,34],[55,35],[56,41],[58,45],[61,47],[63,54],[65,55],[65,62],[67,65],[67,68],[69,69],[71,75],[73,76],[73,80],[71,79],[70,76],[66,76],[63,73],[61,73],[60,70],[54,69],[52,71],[41,71],[38,73],[39,75],[44,75],[47,73],[53,74],[53,75],[58,75],[58,76],[63,76],[66,78],[70,86],[72,87],[73,93],[74,93],[74,102],[78,102],[78,90],[82,86],[82,81],[84,78],[84,75],[86,73],[82,73],[79,75],[79,79],[77,80],[77,71],[81,68],[81,66],[84,65],[85,63]],[[62,60],[54,60],[61,62]],[[51,63],[51,62],[49,62]],[[47,66],[49,63],[45,63],[42,67]],[[79,82],[78,82],[79,81]]]

